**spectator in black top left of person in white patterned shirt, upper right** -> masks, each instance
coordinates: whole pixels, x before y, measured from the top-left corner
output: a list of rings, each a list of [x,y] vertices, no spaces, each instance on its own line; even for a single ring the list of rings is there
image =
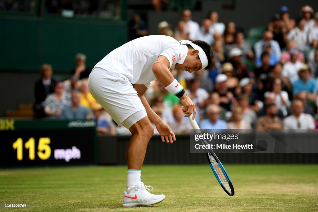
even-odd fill
[[[279,14],[275,14],[271,22],[268,24],[268,30],[273,32],[273,40],[276,40],[280,49],[285,48],[287,43],[287,27],[283,24]]]

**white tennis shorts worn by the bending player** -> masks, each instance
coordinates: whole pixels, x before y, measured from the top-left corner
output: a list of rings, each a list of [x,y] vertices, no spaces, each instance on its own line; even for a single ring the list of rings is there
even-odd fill
[[[125,78],[94,68],[88,78],[89,90],[118,126],[129,129],[147,116],[133,85]]]

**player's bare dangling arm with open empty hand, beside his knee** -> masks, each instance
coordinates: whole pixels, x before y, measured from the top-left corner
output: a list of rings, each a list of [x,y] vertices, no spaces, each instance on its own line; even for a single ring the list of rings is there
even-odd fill
[[[138,97],[140,98],[142,105],[145,107],[149,120],[156,125],[158,132],[161,135],[161,140],[164,142],[166,139],[167,143],[172,143],[176,140],[175,134],[172,132],[170,127],[164,123],[161,118],[151,109],[147,99],[144,94],[147,91],[147,87],[145,85],[133,85],[137,91]]]

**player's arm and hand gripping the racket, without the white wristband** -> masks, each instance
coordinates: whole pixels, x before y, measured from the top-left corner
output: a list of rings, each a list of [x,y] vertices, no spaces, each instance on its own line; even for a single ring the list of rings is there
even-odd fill
[[[156,78],[159,80],[159,82],[161,82],[163,86],[166,87],[166,89],[175,80],[169,70],[169,67],[170,67],[169,60],[162,55],[158,57],[155,64],[152,66],[152,71],[154,72]],[[169,91],[169,89],[167,90]],[[180,98],[181,104],[184,106],[182,111],[183,113],[186,114],[185,117],[189,117],[193,112],[193,119],[194,119],[196,116],[197,110],[192,100],[189,98],[189,96],[186,93],[184,93],[184,91],[183,91],[183,95],[179,98]]]

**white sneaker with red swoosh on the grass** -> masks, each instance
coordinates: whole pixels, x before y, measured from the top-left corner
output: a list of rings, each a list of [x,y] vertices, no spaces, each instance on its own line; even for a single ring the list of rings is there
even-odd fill
[[[145,186],[143,182],[137,183],[136,188],[132,190],[129,194],[127,194],[127,192],[124,191],[124,196],[122,198],[122,206],[134,207],[142,205],[153,205],[163,201],[166,198],[163,194],[150,194],[149,191],[152,191],[153,189],[154,188],[152,188],[152,186]]]

